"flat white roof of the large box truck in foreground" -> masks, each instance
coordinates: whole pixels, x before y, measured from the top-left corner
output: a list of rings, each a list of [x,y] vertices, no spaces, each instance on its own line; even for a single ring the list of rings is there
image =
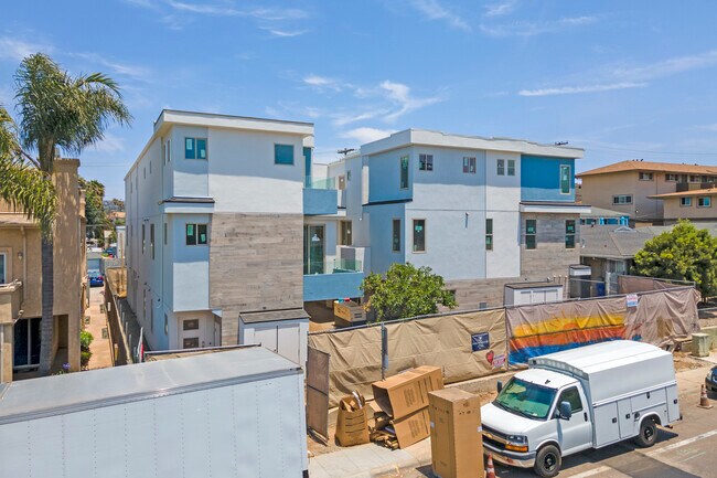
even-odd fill
[[[0,385],[0,424],[135,400],[202,390],[210,384],[301,373],[263,347],[44,376]]]

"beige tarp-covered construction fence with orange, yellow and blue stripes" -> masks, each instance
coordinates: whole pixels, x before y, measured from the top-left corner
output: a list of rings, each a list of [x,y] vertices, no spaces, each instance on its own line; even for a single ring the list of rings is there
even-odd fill
[[[634,279],[634,280],[633,280]],[[665,346],[698,331],[693,286],[627,277],[627,295],[443,314],[313,332],[309,347],[329,354],[329,405],[354,390],[420,365],[443,369],[446,383],[486,376],[529,357],[604,340]],[[635,288],[641,291],[632,293]],[[307,371],[311,374],[311,370]]]

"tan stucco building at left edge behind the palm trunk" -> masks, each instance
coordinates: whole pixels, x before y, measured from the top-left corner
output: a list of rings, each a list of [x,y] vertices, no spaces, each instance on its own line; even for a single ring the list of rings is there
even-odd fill
[[[54,247],[54,334],[51,363],[79,370],[79,331],[86,299],[85,202],[76,159],[57,159]],[[0,382],[40,368],[42,261],[40,226],[0,202]]]

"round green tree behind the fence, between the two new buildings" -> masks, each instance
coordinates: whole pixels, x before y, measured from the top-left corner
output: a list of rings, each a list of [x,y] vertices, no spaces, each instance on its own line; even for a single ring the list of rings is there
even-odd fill
[[[438,306],[457,306],[453,295],[446,290],[443,278],[430,267],[393,264],[386,277],[370,274],[361,284],[368,297],[366,307],[376,311],[378,320],[394,320],[438,312]]]

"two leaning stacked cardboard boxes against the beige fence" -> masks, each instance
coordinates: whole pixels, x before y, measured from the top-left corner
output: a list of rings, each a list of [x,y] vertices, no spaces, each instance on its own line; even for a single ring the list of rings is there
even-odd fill
[[[381,412],[372,439],[392,448],[405,448],[430,435],[428,393],[443,387],[438,367],[424,365],[373,384]]]

